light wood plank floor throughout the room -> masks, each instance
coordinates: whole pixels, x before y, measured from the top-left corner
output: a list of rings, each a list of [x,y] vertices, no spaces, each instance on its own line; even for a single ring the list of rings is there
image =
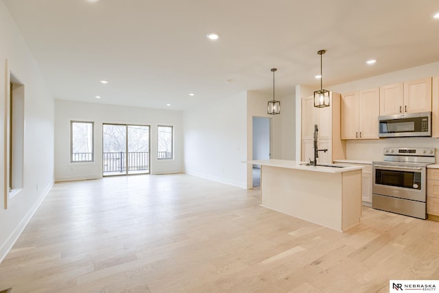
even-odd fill
[[[364,207],[332,231],[190,175],[56,183],[8,257],[21,292],[388,292],[439,279],[439,222]]]

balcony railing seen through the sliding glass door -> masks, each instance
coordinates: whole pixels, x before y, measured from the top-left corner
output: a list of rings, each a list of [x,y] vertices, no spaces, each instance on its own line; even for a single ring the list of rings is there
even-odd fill
[[[126,155],[127,153],[123,151],[102,153],[104,173],[126,173]],[[147,151],[128,152],[128,171],[142,170],[150,170],[150,153]]]

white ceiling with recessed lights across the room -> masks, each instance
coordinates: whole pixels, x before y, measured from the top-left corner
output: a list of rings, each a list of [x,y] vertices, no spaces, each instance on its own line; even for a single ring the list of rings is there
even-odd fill
[[[273,67],[283,97],[320,88],[320,49],[323,88],[439,61],[433,0],[3,2],[57,99],[172,110],[241,90],[271,99]]]

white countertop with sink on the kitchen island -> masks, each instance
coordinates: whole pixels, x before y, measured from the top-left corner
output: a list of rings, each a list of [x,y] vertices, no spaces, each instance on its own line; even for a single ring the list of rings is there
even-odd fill
[[[344,173],[352,170],[360,170],[361,166],[348,166],[348,165],[337,165],[337,164],[325,164],[329,166],[305,166],[307,162],[300,161],[290,161],[290,160],[253,160],[246,161],[247,164],[256,164],[261,166],[271,166],[278,168],[289,168],[296,170],[306,170],[312,172],[322,172],[322,173]],[[331,166],[343,166],[342,168],[336,168]]]

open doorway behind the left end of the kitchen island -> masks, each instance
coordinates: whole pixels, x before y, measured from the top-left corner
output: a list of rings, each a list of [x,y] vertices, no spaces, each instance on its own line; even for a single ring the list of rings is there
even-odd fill
[[[271,158],[271,118],[253,117],[252,160]],[[261,186],[261,165],[253,165],[252,186]]]

